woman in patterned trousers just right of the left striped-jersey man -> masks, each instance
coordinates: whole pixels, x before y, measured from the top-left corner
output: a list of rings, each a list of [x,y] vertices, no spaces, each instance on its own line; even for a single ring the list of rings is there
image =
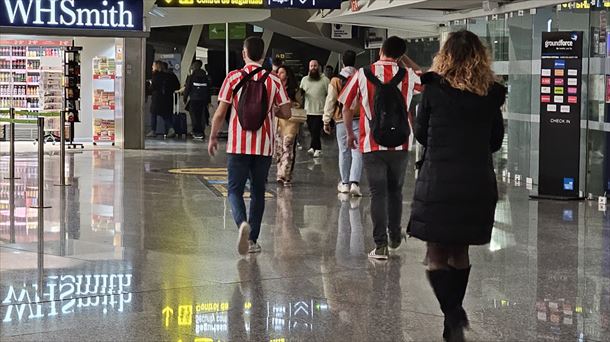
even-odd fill
[[[276,136],[276,161],[277,182],[290,186],[292,183],[292,170],[294,168],[294,155],[296,150],[296,138],[299,128],[307,117],[303,110],[303,94],[299,89],[294,73],[287,66],[279,67],[278,77],[282,81],[288,97],[292,101],[292,117],[282,119],[278,117],[278,129]]]

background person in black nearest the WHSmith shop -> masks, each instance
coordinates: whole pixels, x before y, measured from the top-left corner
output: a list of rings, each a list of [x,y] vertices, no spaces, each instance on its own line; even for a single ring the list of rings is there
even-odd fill
[[[172,112],[174,111],[174,92],[180,89],[180,81],[173,72],[167,70],[167,64],[162,61],[153,63],[153,76],[150,84],[152,103],[151,130],[146,135],[154,137],[157,135],[157,116],[161,116],[165,122],[165,132],[168,138],[176,136],[172,123]]]

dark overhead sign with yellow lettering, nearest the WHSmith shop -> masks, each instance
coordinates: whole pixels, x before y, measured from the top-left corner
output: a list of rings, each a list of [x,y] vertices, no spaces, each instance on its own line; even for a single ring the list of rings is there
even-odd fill
[[[159,7],[338,9],[341,0],[157,0]]]

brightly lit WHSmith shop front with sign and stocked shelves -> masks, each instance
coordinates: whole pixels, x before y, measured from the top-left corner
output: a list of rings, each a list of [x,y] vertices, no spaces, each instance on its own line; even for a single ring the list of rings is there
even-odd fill
[[[0,31],[1,115],[45,116],[56,140],[63,113],[76,143],[143,148],[142,0],[3,1]],[[19,125],[15,139],[34,140],[35,131]],[[0,139],[8,134],[0,126]]]

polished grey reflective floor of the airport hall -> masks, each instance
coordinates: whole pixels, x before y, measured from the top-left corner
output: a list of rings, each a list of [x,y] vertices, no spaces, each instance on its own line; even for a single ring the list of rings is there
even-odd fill
[[[293,188],[270,183],[263,252],[248,258],[234,248],[224,156],[204,144],[70,151],[66,188],[54,186],[50,152],[43,210],[30,208],[36,155],[19,153],[21,179],[0,180],[0,340],[440,341],[424,244],[367,260],[370,199],[337,197],[336,148],[325,144],[319,162],[299,152]],[[492,242],[471,252],[468,340],[609,341],[608,213],[499,181]]]

